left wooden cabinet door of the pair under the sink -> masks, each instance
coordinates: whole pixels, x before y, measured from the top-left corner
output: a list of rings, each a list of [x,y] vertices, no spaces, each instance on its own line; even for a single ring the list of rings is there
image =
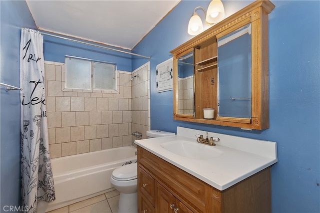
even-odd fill
[[[160,184],[155,183],[155,212],[173,213],[175,206],[175,197]]]

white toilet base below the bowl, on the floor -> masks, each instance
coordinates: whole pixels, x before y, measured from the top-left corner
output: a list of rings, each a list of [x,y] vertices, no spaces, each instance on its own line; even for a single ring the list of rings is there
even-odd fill
[[[137,213],[137,193],[120,193],[118,213]]]

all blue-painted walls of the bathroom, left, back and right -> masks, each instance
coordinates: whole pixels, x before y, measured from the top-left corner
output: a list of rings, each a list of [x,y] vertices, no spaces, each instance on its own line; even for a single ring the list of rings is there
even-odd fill
[[[252,1],[222,1],[230,15]],[[176,126],[277,142],[278,163],[272,166],[272,212],[320,212],[320,77],[319,1],[273,1],[269,14],[270,128],[239,128],[174,121],[172,91],[157,93],[155,66],[171,57],[170,50],[192,38],[187,22],[196,6],[207,0],[183,0],[132,50],[151,56],[151,128],[175,132]],[[0,81],[19,84],[20,27],[35,28],[25,1],[0,1]],[[202,20],[202,11],[197,11]],[[115,60],[118,69],[132,71],[147,59],[44,36],[44,59],[64,61],[64,55]],[[132,63],[131,63],[132,60]],[[0,90],[0,202],[20,204],[19,96]]]

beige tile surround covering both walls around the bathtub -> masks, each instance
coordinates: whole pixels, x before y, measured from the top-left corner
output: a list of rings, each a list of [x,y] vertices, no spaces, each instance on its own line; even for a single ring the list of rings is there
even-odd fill
[[[106,93],[75,89],[62,91],[64,75],[61,73],[64,71],[64,64],[45,61],[44,69],[51,158],[128,146],[132,144],[132,130],[134,132],[137,127],[144,131],[144,126],[148,126],[148,113],[140,112],[145,109],[147,111],[146,71],[141,71],[140,78],[132,82],[131,72],[118,71],[119,93]],[[131,83],[134,89],[133,100],[137,98],[133,104],[134,116],[131,111]],[[140,95],[142,87],[143,95]],[[132,117],[135,121],[134,129]]]

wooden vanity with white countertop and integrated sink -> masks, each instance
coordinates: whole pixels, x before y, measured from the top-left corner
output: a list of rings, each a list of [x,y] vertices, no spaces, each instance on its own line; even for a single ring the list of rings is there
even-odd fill
[[[196,134],[135,141],[138,213],[270,213],[276,143],[208,133],[220,139],[208,146]]]

